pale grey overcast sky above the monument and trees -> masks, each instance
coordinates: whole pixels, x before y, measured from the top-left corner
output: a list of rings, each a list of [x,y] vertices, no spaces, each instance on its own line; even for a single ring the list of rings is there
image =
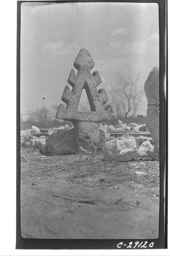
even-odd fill
[[[21,113],[61,103],[81,48],[95,61],[106,90],[115,73],[140,72],[141,88],[159,63],[156,3],[22,3]],[[114,90],[114,89],[113,89]],[[108,95],[109,96],[109,95]],[[147,109],[146,97],[143,108]],[[114,111],[114,110],[113,110]],[[54,113],[55,115],[55,113]]]

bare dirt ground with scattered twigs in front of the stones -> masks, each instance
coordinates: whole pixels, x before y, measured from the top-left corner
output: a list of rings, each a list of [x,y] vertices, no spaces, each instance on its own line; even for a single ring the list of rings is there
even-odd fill
[[[31,148],[21,156],[22,237],[158,237],[158,161],[107,163],[101,152],[42,156]]]

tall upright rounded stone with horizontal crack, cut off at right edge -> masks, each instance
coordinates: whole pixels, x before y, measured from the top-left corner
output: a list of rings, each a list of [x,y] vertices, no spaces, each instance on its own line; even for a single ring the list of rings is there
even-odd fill
[[[159,66],[154,66],[145,84],[144,91],[148,100],[146,127],[154,142],[156,152],[159,152]]]

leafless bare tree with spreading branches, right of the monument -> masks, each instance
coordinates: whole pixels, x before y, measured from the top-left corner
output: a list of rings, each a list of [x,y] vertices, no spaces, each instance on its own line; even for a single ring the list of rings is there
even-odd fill
[[[132,74],[130,71],[127,76],[121,72],[116,74],[116,88],[112,88],[112,107],[115,114],[120,118],[128,115],[134,116],[139,108],[143,91],[138,87],[140,74]]]

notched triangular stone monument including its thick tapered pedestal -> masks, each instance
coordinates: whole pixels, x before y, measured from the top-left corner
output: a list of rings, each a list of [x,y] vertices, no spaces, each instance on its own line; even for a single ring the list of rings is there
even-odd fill
[[[99,143],[99,123],[115,119],[112,108],[103,106],[108,101],[105,89],[97,91],[101,78],[98,71],[91,75],[90,70],[94,66],[91,55],[82,48],[74,62],[78,72],[75,75],[74,69],[71,69],[67,80],[73,89],[70,92],[69,86],[66,85],[61,97],[61,100],[67,104],[67,108],[60,104],[56,114],[56,118],[73,122],[75,143],[79,154],[95,152]],[[83,89],[86,91],[91,112],[78,111]]]

